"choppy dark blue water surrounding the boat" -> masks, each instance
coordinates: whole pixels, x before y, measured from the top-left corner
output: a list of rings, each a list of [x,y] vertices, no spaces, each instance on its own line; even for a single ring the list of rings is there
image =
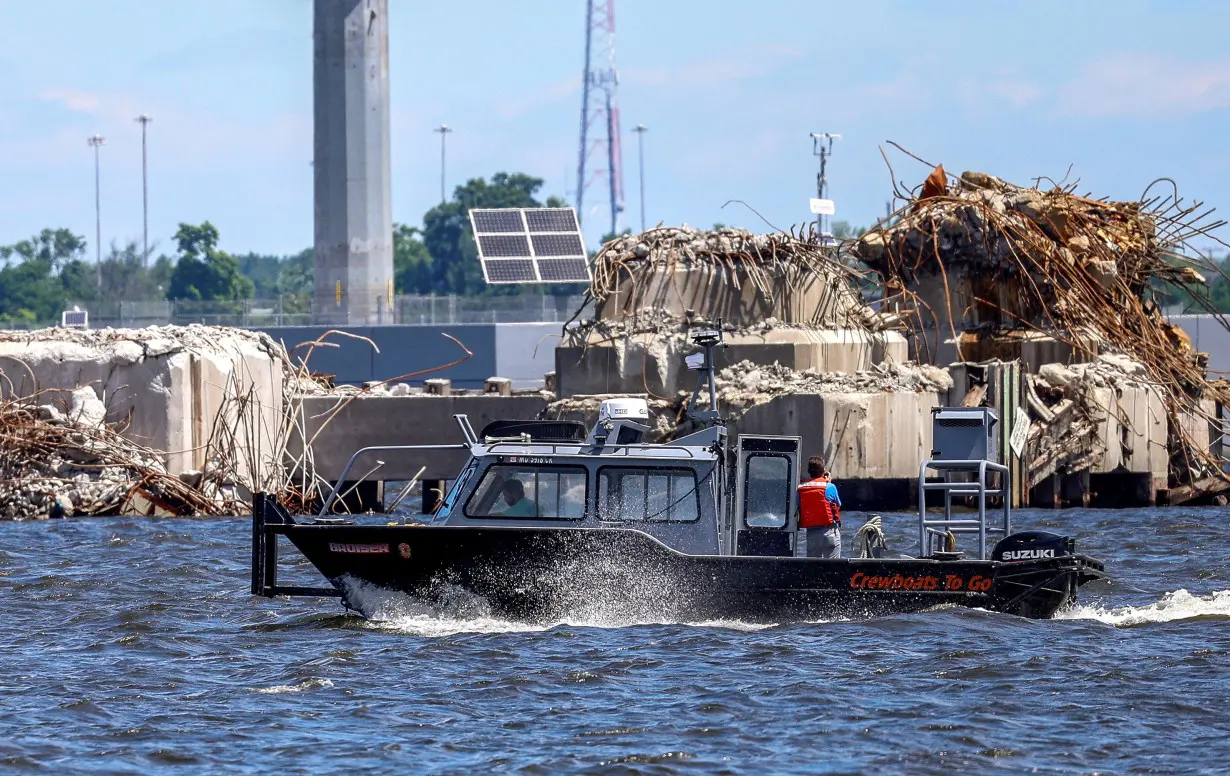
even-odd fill
[[[1053,621],[549,628],[252,598],[246,520],[0,524],[0,772],[1221,774],[1228,519],[1020,513],[1113,576]]]

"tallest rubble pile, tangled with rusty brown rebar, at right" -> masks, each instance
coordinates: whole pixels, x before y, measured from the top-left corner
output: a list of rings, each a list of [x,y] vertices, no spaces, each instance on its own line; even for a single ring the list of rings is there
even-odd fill
[[[1220,476],[1207,440],[1188,434],[1183,417],[1205,416],[1207,400],[1230,400],[1230,386],[1207,378],[1208,355],[1155,301],[1168,287],[1207,303],[1202,269],[1210,264],[1184,248],[1221,224],[1207,221],[1212,210],[1200,203],[1183,203],[1168,184],[1166,191],[1111,202],[1076,196],[1070,186],[1023,188],[980,172],[950,180],[941,165],[895,220],[862,235],[852,252],[882,277],[883,305],[907,322],[916,347],[938,347],[951,332],[957,360],[1030,360],[1022,343],[1043,337],[1066,348],[1065,360],[1095,362],[1070,368],[1079,386],[1123,379],[1154,385],[1173,429],[1172,460],[1183,461],[1170,471],[1176,487]],[[1052,419],[1032,405],[1031,414],[1043,429],[1036,434],[1044,434]],[[1052,430],[1073,446],[1071,428]],[[1033,465],[1048,466],[1047,456]]]

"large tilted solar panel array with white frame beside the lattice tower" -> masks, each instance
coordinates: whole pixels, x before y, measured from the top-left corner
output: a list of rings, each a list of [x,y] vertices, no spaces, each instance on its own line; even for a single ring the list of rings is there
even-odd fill
[[[589,256],[572,208],[470,210],[487,283],[589,283]]]

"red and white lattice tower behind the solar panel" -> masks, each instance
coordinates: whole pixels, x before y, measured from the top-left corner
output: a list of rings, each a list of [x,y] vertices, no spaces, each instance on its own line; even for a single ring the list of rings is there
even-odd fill
[[[585,0],[585,71],[581,97],[577,215],[584,221],[585,193],[610,204],[610,234],[624,213],[624,157],[619,129],[619,71],[615,69],[615,0]]]

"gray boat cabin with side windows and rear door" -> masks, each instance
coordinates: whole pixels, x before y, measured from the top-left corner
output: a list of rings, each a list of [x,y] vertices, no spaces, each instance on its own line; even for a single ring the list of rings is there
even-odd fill
[[[471,457],[432,525],[635,529],[688,555],[795,555],[797,437],[739,437],[710,426],[647,443],[648,403],[611,398],[593,429],[560,421],[499,421],[475,434]]]

